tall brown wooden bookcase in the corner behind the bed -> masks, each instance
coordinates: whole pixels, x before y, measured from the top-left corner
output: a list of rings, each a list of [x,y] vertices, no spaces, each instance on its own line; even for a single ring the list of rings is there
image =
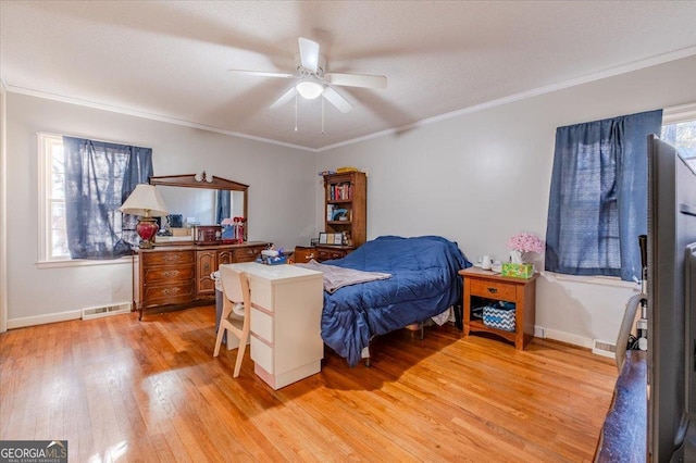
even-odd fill
[[[318,246],[326,259],[345,256],[368,238],[368,177],[364,172],[324,175],[324,230],[346,234],[349,242],[343,246]]]

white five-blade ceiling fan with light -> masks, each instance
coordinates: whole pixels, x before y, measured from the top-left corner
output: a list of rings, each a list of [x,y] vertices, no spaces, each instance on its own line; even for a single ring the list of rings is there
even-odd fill
[[[319,43],[303,37],[299,37],[298,42],[300,52],[296,55],[295,73],[245,70],[229,70],[229,72],[261,77],[296,79],[295,85],[271,104],[271,109],[284,105],[297,95],[309,100],[321,96],[336,107],[338,111],[347,113],[352,109],[352,104],[338,93],[334,86],[386,88],[387,78],[385,76],[326,72],[326,58],[319,54]]]

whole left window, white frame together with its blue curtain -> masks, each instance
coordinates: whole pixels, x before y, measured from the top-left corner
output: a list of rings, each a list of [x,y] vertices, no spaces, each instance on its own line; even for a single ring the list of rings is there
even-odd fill
[[[152,149],[38,134],[39,262],[130,253],[137,217],[119,211],[152,173]]]

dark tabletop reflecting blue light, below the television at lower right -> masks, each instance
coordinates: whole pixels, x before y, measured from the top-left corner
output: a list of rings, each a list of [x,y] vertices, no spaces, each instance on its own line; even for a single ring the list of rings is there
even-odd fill
[[[626,351],[601,427],[595,462],[647,460],[647,352]]]

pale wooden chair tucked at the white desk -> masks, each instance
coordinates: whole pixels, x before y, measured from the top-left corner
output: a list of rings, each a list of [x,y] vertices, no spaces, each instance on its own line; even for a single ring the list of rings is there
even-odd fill
[[[239,376],[244,351],[249,340],[250,313],[251,313],[251,290],[249,289],[249,276],[245,272],[238,272],[227,266],[220,267],[220,279],[222,281],[223,309],[220,317],[220,328],[215,340],[215,351],[213,356],[220,353],[220,345],[225,330],[239,338],[237,349],[237,362],[235,363],[234,377]],[[244,315],[238,314],[233,309],[237,303],[244,304]]]

